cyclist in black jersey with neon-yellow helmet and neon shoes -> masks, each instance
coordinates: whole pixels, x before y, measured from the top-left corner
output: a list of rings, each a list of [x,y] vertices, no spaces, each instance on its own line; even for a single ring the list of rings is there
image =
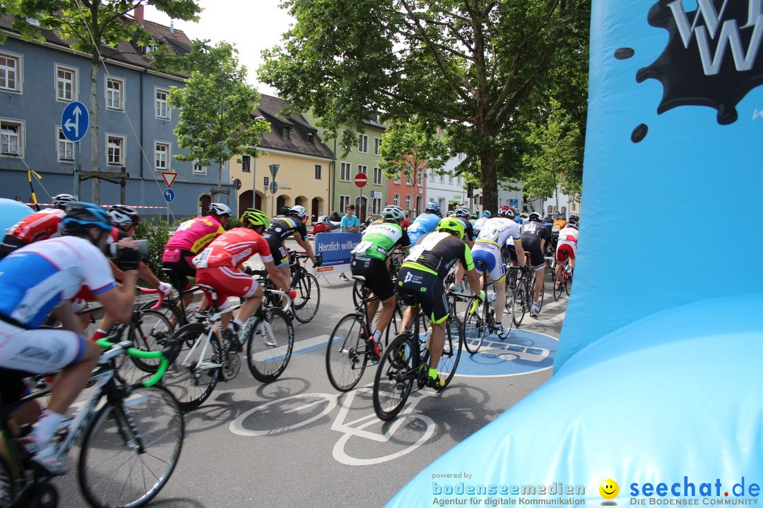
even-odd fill
[[[445,296],[445,277],[453,264],[460,261],[466,267],[466,276],[475,295],[485,301],[485,292],[480,290],[479,275],[472,261],[472,252],[463,242],[464,224],[455,217],[439,221],[437,231],[421,238],[403,261],[398,273],[398,292],[416,296],[421,308],[430,317],[432,337],[430,337],[430,368],[427,385],[437,390],[445,382],[437,375],[437,365],[443,355],[445,326],[448,318],[448,302]],[[410,305],[403,315],[403,328],[410,327],[416,317],[417,308]]]

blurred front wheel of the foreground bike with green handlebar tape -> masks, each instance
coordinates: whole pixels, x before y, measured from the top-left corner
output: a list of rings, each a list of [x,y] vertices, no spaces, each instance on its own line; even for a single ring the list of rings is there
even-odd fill
[[[167,483],[182,449],[178,402],[162,386],[108,400],[79,453],[79,487],[91,506],[144,506]]]

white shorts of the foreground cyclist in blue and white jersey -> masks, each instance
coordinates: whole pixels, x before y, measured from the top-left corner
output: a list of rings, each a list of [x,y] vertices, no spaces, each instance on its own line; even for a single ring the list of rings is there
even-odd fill
[[[0,321],[0,367],[32,374],[59,372],[79,363],[85,339],[61,329],[27,330]]]

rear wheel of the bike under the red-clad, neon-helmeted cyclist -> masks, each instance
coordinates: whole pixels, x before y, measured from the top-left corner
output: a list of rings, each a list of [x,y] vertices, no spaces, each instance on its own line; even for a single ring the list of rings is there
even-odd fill
[[[180,327],[170,340],[181,343],[179,353],[171,359],[164,375],[164,385],[178,399],[180,409],[191,411],[199,407],[212,394],[220,379],[222,347],[217,335],[209,337],[208,327],[201,323],[189,323]],[[199,342],[191,353],[194,344]],[[204,350],[206,349],[206,350]],[[202,357],[202,354],[204,355]]]

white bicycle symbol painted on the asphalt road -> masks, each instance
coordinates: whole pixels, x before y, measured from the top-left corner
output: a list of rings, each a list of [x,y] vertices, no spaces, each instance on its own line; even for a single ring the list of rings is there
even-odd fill
[[[305,425],[319,420],[320,418],[329,414],[338,404],[339,398],[343,395],[346,395],[346,398],[340,407],[339,414],[336,415],[336,418],[334,418],[333,422],[331,423],[331,430],[343,434],[339,440],[336,441],[336,445],[333,447],[333,458],[336,459],[337,462],[341,462],[342,464],[346,465],[375,465],[381,464],[381,462],[388,462],[394,460],[395,458],[402,457],[407,453],[413,452],[414,449],[417,449],[419,446],[423,445],[423,443],[426,443],[427,440],[430,439],[430,437],[432,437],[434,434],[436,428],[434,420],[432,420],[430,417],[427,417],[427,415],[414,413],[413,411],[417,404],[420,403],[420,401],[423,401],[424,398],[427,398],[430,395],[435,395],[435,392],[416,391],[411,393],[410,397],[408,398],[407,407],[404,409],[404,411],[401,412],[401,414],[398,415],[398,418],[394,420],[394,422],[391,422],[388,429],[384,433],[365,430],[367,427],[370,427],[375,423],[381,424],[375,413],[350,422],[345,421],[356,395],[360,392],[371,393],[372,387],[364,386],[362,388],[358,388],[355,391],[349,391],[346,394],[307,393],[279,398],[278,400],[266,402],[265,404],[253,407],[253,409],[250,409],[249,411],[246,411],[246,413],[241,414],[236,418],[236,420],[233,420],[233,422],[230,423],[230,432],[239,436],[272,436],[274,434],[285,433],[289,430],[298,429],[299,427],[304,427]],[[278,404],[285,404],[287,406],[294,407],[289,407],[285,410],[279,410]],[[321,405],[324,405],[324,407],[320,411],[315,414],[311,412],[316,410],[317,407],[320,407]],[[279,415],[307,413],[300,416],[310,416],[304,420],[298,420],[296,423],[291,423],[291,425],[280,427],[278,429],[250,430],[244,427],[244,421],[247,418],[258,412],[267,413],[268,411],[274,411],[275,414]],[[407,448],[375,458],[357,458],[350,456],[345,451],[345,447],[349,442],[349,439],[353,436],[362,439],[370,439],[376,443],[388,443],[392,436],[394,436],[394,434],[400,430],[403,423],[410,423],[410,419],[420,420],[420,422],[423,423],[423,430],[416,430],[417,433],[421,432],[421,436],[416,440],[415,443],[407,446]],[[272,419],[269,416],[265,416],[260,417],[259,420]],[[364,449],[367,449],[367,447],[364,447]]]

